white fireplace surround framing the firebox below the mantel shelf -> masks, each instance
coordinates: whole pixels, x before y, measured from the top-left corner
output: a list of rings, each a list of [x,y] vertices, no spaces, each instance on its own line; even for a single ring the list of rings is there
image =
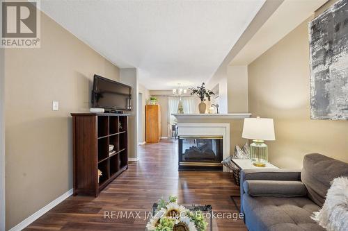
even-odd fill
[[[209,136],[221,135],[223,137],[223,159],[230,155],[230,123],[177,123],[177,135]],[[223,166],[223,171],[228,171]]]

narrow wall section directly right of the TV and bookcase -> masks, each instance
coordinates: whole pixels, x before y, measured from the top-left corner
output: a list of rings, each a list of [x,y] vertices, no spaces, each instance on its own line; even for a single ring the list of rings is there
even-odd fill
[[[138,70],[135,68],[123,68],[120,69],[120,82],[125,83],[132,87],[132,111],[129,113],[128,121],[128,156],[130,160],[138,159]]]

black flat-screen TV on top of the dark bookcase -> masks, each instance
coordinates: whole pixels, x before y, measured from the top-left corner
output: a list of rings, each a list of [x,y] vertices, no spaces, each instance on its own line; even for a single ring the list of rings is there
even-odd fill
[[[123,83],[94,75],[93,108],[106,110],[131,110],[132,87]]]

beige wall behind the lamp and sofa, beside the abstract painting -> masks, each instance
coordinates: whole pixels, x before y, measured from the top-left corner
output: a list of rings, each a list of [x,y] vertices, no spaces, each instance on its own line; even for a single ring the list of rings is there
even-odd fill
[[[300,168],[306,153],[348,162],[348,121],[310,119],[309,21],[248,66],[249,112],[274,118],[276,141],[267,142],[269,160],[284,168]]]

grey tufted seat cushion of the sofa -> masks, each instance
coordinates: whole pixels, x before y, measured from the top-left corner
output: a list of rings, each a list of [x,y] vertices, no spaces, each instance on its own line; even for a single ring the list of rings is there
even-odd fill
[[[310,219],[311,214],[320,207],[306,197],[253,197],[244,194],[242,206],[246,227],[250,231],[324,231]]]

